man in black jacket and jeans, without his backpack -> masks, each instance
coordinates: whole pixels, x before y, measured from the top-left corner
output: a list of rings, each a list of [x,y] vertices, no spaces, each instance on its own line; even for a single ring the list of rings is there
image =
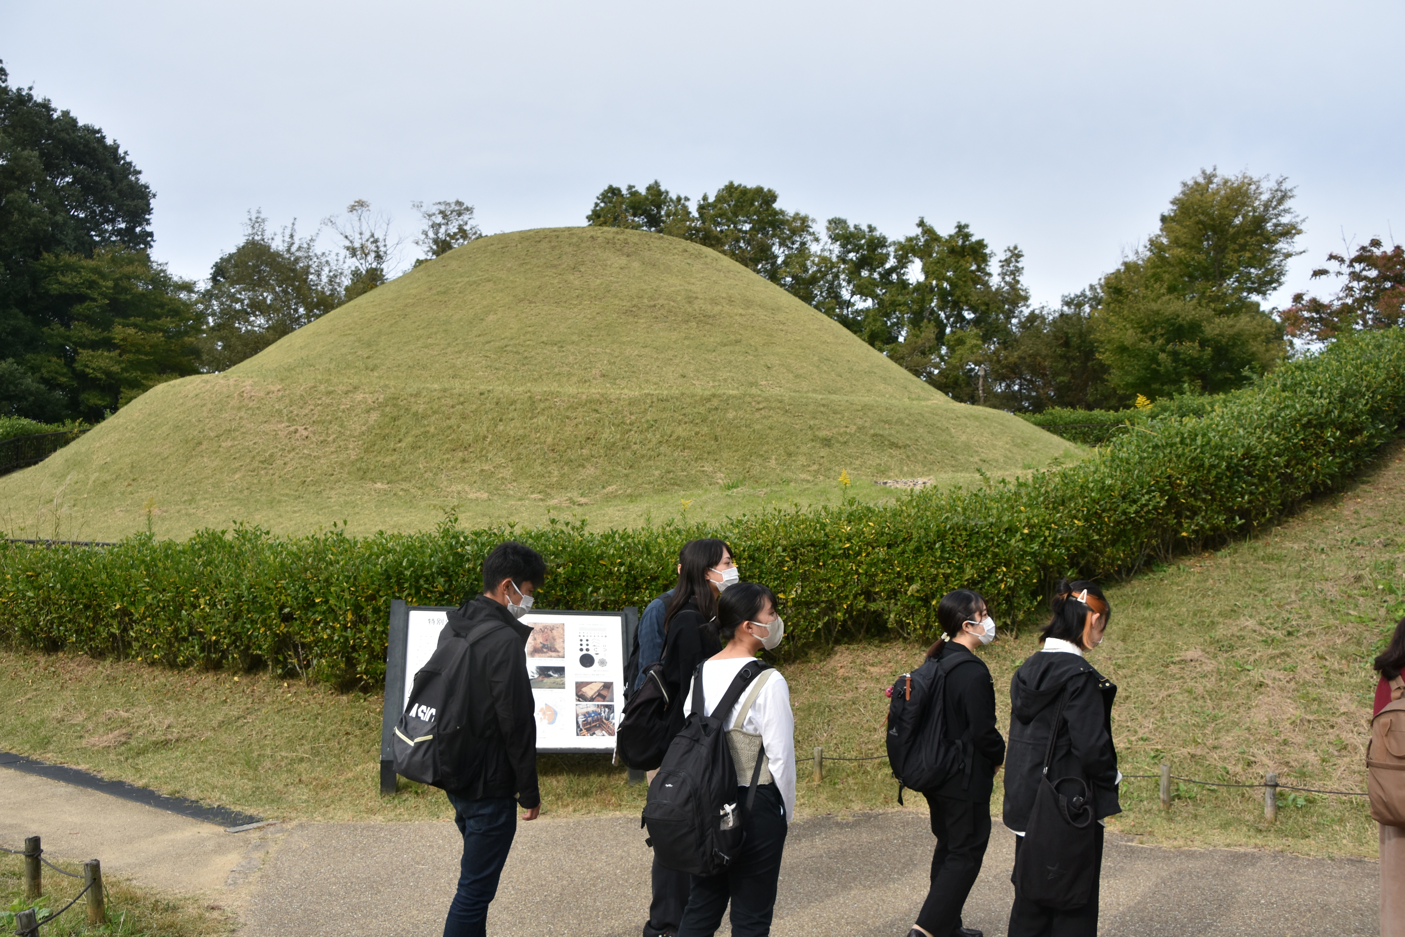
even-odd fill
[[[517,621],[547,577],[541,555],[509,541],[483,561],[483,591],[448,614],[440,643],[451,635],[475,638],[464,680],[478,764],[469,781],[448,791],[454,823],[464,834],[458,892],[444,922],[444,937],[485,937],[488,905],[517,833],[516,801],[524,820],[537,819],[537,722],[527,676],[531,627]]]

